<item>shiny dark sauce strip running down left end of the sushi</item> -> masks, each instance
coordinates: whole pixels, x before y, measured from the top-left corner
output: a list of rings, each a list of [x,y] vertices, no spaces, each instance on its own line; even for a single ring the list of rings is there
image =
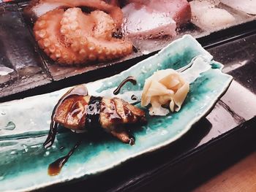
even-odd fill
[[[88,90],[84,85],[78,85],[78,86],[75,86],[74,88],[70,89],[69,91],[67,91],[67,93],[65,93],[64,96],[62,96],[61,99],[59,99],[59,101],[56,104],[56,106],[54,107],[52,115],[50,117],[50,120],[51,120],[50,121],[50,131],[48,133],[47,139],[45,140],[45,143],[43,144],[43,146],[45,148],[48,148],[51,145],[53,145],[54,139],[56,137],[58,123],[56,123],[54,121],[54,117],[55,117],[57,108],[65,99],[67,99],[69,96],[74,96],[74,95],[87,96]]]

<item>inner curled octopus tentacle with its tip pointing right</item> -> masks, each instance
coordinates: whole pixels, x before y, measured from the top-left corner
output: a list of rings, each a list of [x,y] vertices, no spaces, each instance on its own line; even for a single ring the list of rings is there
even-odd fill
[[[61,25],[61,31],[66,39],[75,44],[75,49],[83,49],[89,54],[90,61],[120,58],[132,52],[131,42],[112,37],[115,26],[105,12],[94,11],[86,15],[80,8],[67,11],[63,20],[70,24]],[[75,23],[75,27],[72,27],[72,23]],[[86,45],[82,45],[80,42],[85,41],[85,36]]]

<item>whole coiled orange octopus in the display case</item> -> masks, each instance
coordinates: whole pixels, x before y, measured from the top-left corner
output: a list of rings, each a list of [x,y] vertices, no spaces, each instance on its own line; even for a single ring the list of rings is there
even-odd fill
[[[113,37],[113,33],[121,26],[122,12],[118,7],[113,11],[110,9],[113,5],[98,0],[43,2],[58,3],[58,7],[74,7],[64,11],[56,6],[39,16],[34,23],[35,39],[53,61],[59,64],[86,64],[89,61],[113,60],[132,53],[131,42]],[[37,6],[39,4],[34,5]],[[75,6],[88,6],[97,10],[84,13]]]

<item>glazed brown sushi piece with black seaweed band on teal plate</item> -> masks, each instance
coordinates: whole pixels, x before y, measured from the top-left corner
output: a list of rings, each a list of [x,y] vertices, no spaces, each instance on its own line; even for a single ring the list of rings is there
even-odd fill
[[[123,99],[88,96],[87,89],[80,85],[67,92],[53,110],[44,146],[53,144],[58,124],[76,132],[102,129],[121,142],[134,145],[135,138],[128,133],[127,125],[135,123],[146,123],[143,110]]]

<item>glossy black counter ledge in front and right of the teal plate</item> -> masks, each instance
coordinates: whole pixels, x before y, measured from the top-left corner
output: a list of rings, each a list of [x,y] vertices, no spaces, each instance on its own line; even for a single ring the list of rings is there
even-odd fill
[[[234,48],[236,47],[236,48]],[[240,155],[255,149],[256,34],[208,51],[225,64],[233,82],[214,109],[162,150],[128,161],[111,172],[49,191],[189,191]]]

